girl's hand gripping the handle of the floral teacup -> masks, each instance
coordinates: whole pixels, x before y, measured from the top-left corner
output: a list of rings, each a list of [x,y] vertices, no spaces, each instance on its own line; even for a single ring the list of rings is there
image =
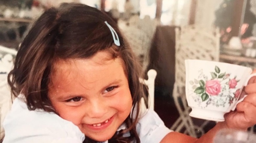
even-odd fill
[[[254,70],[252,73],[256,73]],[[235,111],[224,115],[228,128],[247,130],[256,124],[256,77],[252,77],[244,88],[247,96],[238,103]]]

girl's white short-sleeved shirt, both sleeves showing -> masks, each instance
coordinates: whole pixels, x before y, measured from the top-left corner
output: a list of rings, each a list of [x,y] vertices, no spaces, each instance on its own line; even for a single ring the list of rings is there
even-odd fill
[[[30,111],[19,98],[14,100],[3,126],[3,143],[82,143],[85,139],[72,122],[41,109]],[[122,124],[118,130],[124,128]],[[151,110],[139,119],[136,129],[141,143],[158,143],[171,132],[157,113]]]

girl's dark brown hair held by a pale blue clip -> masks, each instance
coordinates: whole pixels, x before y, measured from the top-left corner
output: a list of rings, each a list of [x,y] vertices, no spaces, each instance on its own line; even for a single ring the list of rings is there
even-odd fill
[[[105,21],[117,32],[120,46],[114,44]],[[18,50],[14,69],[8,75],[11,91],[15,97],[20,93],[25,95],[29,110],[39,108],[54,112],[48,99],[53,63],[57,59],[89,58],[102,50],[112,51],[113,58],[123,60],[132,104],[135,106],[137,103],[139,107],[144,92],[139,83],[142,75],[138,60],[115,21],[96,8],[83,4],[63,3],[59,8],[50,8],[33,24]],[[132,110],[133,113],[136,113],[135,119],[128,116],[124,121],[128,129],[114,135],[109,142],[140,142],[136,132],[139,108]],[[123,137],[128,131],[131,136]],[[96,141],[86,137],[84,142]]]

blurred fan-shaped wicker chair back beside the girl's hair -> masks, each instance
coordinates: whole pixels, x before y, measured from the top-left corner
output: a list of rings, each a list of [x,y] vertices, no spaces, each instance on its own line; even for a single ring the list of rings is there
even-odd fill
[[[149,62],[149,49],[157,21],[151,20],[148,16],[140,19],[138,15],[135,15],[129,21],[119,20],[118,26],[136,56],[139,57],[142,68],[145,71]]]

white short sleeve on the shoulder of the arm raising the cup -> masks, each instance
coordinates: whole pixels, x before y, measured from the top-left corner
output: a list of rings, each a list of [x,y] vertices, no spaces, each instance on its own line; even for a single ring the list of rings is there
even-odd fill
[[[140,141],[143,143],[158,143],[165,135],[172,132],[164,125],[158,114],[153,110],[148,110],[139,119],[136,125]]]

